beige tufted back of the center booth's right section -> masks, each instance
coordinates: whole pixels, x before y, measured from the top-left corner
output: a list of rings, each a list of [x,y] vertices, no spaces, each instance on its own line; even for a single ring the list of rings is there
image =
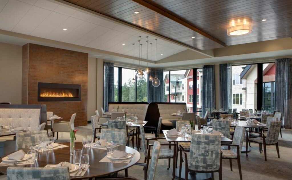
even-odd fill
[[[171,116],[172,113],[177,113],[178,110],[183,112],[183,109],[187,109],[185,104],[158,104],[160,117],[162,119],[178,119],[177,116]]]

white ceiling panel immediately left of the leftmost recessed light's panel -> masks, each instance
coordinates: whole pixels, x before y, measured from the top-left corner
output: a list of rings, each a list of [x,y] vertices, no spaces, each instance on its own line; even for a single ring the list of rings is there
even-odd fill
[[[30,35],[45,38],[68,18],[69,16],[52,12]]]

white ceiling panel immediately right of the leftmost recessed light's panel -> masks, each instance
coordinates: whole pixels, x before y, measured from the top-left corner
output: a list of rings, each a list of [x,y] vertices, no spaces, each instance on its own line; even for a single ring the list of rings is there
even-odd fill
[[[74,43],[77,39],[81,38],[91,30],[97,27],[96,24],[90,22],[83,22],[80,26],[70,32],[67,36],[61,39],[62,42]]]

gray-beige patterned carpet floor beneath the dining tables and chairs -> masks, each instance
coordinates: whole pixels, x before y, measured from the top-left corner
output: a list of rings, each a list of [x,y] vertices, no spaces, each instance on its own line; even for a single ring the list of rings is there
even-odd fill
[[[76,133],[77,141],[82,141],[82,137],[91,135],[91,124],[88,126],[77,127],[79,131]],[[279,137],[280,158],[277,157],[275,146],[267,146],[267,161],[265,161],[264,154],[259,152],[258,144],[251,143],[251,152],[248,156],[242,153],[240,156],[242,176],[245,180],[267,180],[267,179],[291,179],[292,178],[292,130],[282,129],[283,138]],[[161,134],[160,137],[163,137]],[[69,133],[59,133],[59,139],[68,139]],[[161,143],[166,141],[162,140]],[[244,141],[245,146],[245,141]],[[131,147],[131,145],[130,145]],[[144,154],[140,151],[141,160],[144,162]],[[239,172],[237,161],[232,160],[233,171],[230,171],[229,160],[222,160],[223,179],[229,180],[239,179]],[[168,159],[159,159],[155,179],[170,180],[172,178],[172,160],[171,168],[167,170]],[[132,166],[128,169],[129,177],[144,179],[144,172],[141,166]],[[215,179],[218,178],[218,173],[215,173]],[[124,172],[118,173],[119,177],[124,177]],[[0,176],[0,179],[6,179],[6,175]],[[177,178],[176,178],[177,179]]]

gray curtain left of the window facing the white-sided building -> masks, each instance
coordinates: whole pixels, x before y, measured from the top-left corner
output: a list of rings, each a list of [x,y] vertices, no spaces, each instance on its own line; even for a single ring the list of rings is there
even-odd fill
[[[223,110],[231,109],[232,103],[232,72],[231,64],[219,65],[220,106]]]

